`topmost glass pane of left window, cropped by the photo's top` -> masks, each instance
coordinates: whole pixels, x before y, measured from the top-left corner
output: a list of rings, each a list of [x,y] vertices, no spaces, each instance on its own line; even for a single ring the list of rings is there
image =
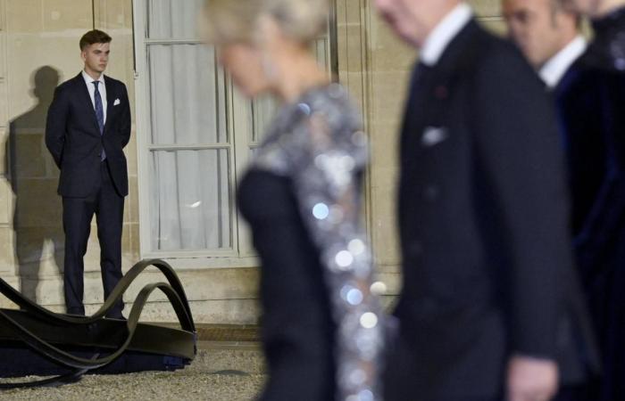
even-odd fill
[[[204,0],[147,0],[146,36],[149,39],[198,37],[197,15]]]

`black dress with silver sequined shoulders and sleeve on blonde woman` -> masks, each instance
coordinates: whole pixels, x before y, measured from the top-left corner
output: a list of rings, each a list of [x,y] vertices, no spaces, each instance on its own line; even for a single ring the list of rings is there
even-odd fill
[[[366,136],[346,92],[279,111],[239,184],[262,261],[263,401],[379,400],[382,315],[360,215]]]

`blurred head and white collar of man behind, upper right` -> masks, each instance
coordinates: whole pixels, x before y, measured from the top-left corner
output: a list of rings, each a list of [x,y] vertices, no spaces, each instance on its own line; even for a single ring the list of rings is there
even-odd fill
[[[557,0],[504,0],[502,3],[512,41],[545,85],[554,89],[586,51],[586,39],[579,32],[579,15],[563,9]]]

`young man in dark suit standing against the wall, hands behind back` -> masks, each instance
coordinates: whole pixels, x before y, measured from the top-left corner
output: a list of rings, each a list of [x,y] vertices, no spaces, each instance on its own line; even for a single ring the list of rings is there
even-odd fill
[[[130,139],[126,86],[104,76],[111,37],[92,30],[80,39],[84,70],[56,88],[48,110],[46,145],[61,168],[67,312],[85,315],[83,258],[96,215],[104,298],[121,279],[121,228],[128,171],[123,148]],[[120,301],[109,317],[123,318]]]

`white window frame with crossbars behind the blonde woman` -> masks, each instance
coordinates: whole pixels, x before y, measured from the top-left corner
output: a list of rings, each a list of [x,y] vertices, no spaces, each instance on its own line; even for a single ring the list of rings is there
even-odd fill
[[[2,0],[0,0],[2,1]],[[199,45],[201,40],[197,38],[187,39],[150,39],[146,35],[146,5],[149,0],[133,0],[133,29],[135,45],[135,102],[136,102],[136,125],[137,125],[137,183],[138,183],[138,209],[139,209],[139,255],[141,258],[162,258],[171,266],[185,269],[204,268],[229,268],[229,267],[255,267],[260,266],[254,255],[254,247],[247,235],[246,225],[240,217],[236,207],[236,189],[238,179],[245,171],[246,163],[250,157],[249,134],[250,127],[249,108],[245,107],[246,98],[234,87],[232,80],[226,77],[226,115],[227,135],[229,143],[223,145],[197,146],[191,145],[154,145],[150,143],[151,120],[150,120],[150,82],[149,66],[147,65],[148,45]],[[184,1],[184,0],[182,0]],[[333,20],[334,13],[330,15]],[[195,23],[196,21],[193,21]],[[330,23],[327,38],[327,50],[329,66],[335,59],[336,45],[332,37],[336,34]],[[332,69],[334,70],[334,69]],[[243,107],[242,107],[243,106]],[[204,149],[229,149],[229,206],[231,225],[231,249],[227,250],[159,250],[151,249],[150,233],[150,152],[158,150],[204,150]]]

